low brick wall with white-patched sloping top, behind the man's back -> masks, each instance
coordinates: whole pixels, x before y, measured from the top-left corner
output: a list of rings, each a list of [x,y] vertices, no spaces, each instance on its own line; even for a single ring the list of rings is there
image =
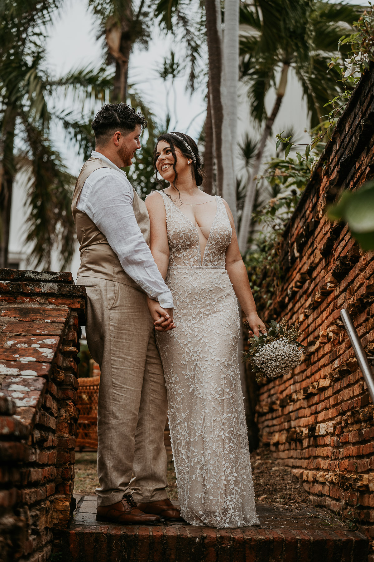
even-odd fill
[[[49,560],[72,500],[85,289],[0,270],[0,560]]]

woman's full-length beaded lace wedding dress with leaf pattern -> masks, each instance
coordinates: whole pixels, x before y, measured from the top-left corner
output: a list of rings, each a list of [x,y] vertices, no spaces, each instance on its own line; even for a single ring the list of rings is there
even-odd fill
[[[232,229],[220,197],[201,262],[196,226],[163,192],[170,248],[166,283],[176,328],[156,332],[182,517],[243,527],[258,519],[238,369],[239,314],[225,270]]]

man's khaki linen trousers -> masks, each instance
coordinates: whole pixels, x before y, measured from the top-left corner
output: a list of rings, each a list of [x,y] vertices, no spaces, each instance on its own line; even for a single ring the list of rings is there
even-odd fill
[[[164,428],[167,392],[146,295],[98,277],[87,291],[87,345],[100,365],[98,506],[132,493],[136,502],[167,498]]]

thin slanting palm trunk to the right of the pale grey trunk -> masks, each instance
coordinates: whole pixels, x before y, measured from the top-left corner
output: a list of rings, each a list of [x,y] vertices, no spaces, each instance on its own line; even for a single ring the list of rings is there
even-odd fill
[[[262,156],[264,155],[267,139],[269,138],[271,128],[273,127],[274,124],[275,117],[278,115],[279,108],[283,100],[285,88],[287,85],[288,69],[289,69],[289,64],[284,63],[281,77],[280,77],[279,87],[276,92],[276,99],[275,99],[273,111],[271,112],[270,117],[268,117],[268,119],[266,120],[265,129],[264,132],[262,133],[260,145],[258,146],[258,150],[256,152],[255,161],[253,162],[251,179],[247,187],[246,199],[244,201],[241,225],[238,235],[239,250],[241,251],[242,255],[244,255],[244,253],[247,250],[248,233],[250,232],[250,228],[251,228],[253,202],[255,201],[255,195],[256,195],[257,175],[258,175],[258,171],[260,171]]]

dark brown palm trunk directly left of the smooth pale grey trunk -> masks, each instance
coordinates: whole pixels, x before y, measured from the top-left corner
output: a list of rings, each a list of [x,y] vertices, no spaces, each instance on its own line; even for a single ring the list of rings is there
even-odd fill
[[[213,130],[214,160],[216,167],[216,194],[223,193],[222,125],[223,105],[221,98],[222,32],[219,0],[205,0],[206,39],[209,60],[209,101]]]

